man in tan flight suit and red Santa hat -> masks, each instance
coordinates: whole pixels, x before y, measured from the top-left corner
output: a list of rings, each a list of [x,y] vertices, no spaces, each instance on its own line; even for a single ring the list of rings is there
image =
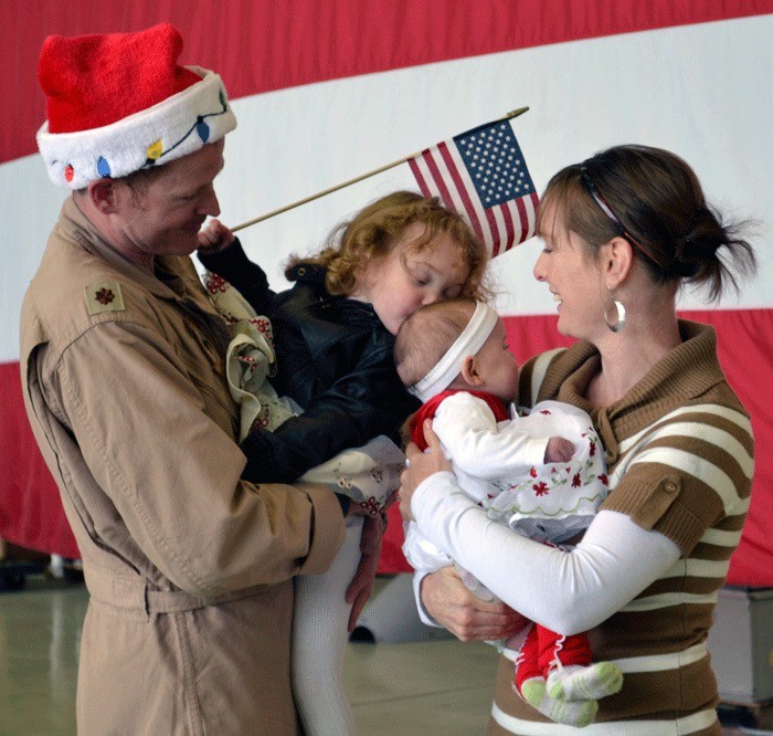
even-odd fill
[[[181,48],[161,24],[41,52],[39,147],[74,191],[24,298],[21,371],[91,593],[78,733],[297,734],[292,578],[328,567],[343,504],[240,480],[227,335],[189,257],[236,120]]]

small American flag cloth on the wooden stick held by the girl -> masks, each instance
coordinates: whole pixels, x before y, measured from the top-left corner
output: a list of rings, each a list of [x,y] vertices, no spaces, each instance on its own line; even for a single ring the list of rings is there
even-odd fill
[[[422,193],[466,215],[493,256],[534,234],[539,197],[510,120],[497,120],[409,160]]]

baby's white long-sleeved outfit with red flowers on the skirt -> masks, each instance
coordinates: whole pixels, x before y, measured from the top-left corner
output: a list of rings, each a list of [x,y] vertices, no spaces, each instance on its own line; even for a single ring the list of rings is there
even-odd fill
[[[542,401],[529,414],[497,422],[488,403],[459,391],[443,399],[433,430],[451,460],[459,487],[498,521],[519,534],[560,543],[585,529],[606,497],[603,453],[586,412],[559,401]],[[551,437],[575,446],[569,462],[544,463]],[[403,553],[416,570],[434,571],[452,556],[427,539],[416,524],[405,529]],[[470,589],[475,581],[463,575]],[[481,591],[484,597],[488,593]]]

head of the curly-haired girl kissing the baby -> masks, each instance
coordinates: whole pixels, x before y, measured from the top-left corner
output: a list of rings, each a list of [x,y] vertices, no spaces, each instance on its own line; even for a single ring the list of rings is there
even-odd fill
[[[484,298],[487,255],[467,222],[436,198],[396,191],[375,200],[331,235],[315,259],[331,294],[373,305],[395,335],[419,307],[456,296]]]

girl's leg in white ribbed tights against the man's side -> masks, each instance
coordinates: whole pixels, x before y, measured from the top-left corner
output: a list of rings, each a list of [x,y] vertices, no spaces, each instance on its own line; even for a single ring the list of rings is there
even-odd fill
[[[293,691],[306,736],[354,736],[343,692],[350,606],[343,600],[360,561],[362,518],[347,518],[343,547],[322,575],[295,580]]]

